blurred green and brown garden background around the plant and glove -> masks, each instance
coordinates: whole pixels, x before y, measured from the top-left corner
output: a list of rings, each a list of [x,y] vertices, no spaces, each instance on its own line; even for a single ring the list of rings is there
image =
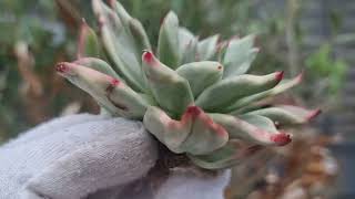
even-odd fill
[[[174,10],[204,38],[256,33],[252,73],[276,70],[305,81],[278,97],[321,107],[292,145],[233,169],[226,198],[355,198],[355,1],[120,0],[156,43],[161,19]],[[53,66],[77,55],[80,22],[95,20],[88,0],[0,0],[0,143],[67,114],[98,113]]]

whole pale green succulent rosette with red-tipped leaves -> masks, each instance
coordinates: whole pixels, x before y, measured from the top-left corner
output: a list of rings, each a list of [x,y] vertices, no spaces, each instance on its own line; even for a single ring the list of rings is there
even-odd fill
[[[231,167],[265,146],[284,146],[291,135],[282,127],[320,113],[257,104],[297,85],[302,74],[291,80],[283,80],[283,72],[245,74],[258,52],[253,35],[200,41],[179,27],[171,11],[154,55],[143,25],[119,2],[93,0],[92,7],[99,36],[83,23],[79,60],[59,63],[57,71],[88,92],[102,112],[143,121],[171,151],[202,168]]]

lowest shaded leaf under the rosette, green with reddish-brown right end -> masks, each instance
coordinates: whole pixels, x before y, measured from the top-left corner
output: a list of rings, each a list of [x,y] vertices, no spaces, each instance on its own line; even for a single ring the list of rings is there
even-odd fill
[[[205,169],[231,168],[245,163],[264,147],[260,145],[246,145],[240,140],[230,140],[224,147],[203,156],[187,155],[195,165]]]

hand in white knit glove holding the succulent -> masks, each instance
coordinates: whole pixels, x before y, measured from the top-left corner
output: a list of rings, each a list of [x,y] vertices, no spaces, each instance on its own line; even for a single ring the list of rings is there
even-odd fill
[[[230,172],[173,169],[153,190],[156,143],[140,122],[73,115],[0,147],[0,199],[219,199]]]

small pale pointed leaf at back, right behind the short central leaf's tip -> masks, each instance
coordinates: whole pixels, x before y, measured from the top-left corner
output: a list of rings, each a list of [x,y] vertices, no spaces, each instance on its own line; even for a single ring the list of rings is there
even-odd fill
[[[206,38],[197,44],[197,57],[201,61],[210,60],[216,53],[219,35]]]

